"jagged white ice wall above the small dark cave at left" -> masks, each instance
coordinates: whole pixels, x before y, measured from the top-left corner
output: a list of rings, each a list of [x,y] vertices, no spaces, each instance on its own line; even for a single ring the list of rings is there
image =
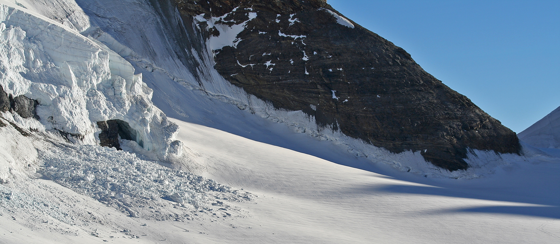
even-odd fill
[[[120,119],[137,132],[137,141],[153,159],[180,154],[180,143],[174,143],[179,128],[153,105],[153,91],[142,74],[100,41],[78,32],[89,27],[87,18],[73,20],[71,28],[25,4],[0,1],[4,91],[38,101],[44,130],[79,135],[69,137],[74,143],[99,143],[96,122]]]

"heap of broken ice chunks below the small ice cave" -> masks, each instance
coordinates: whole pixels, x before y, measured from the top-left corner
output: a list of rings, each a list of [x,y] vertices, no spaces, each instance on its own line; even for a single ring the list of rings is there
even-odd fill
[[[151,209],[175,204],[173,207],[182,207],[183,212],[198,209],[211,212],[215,198],[227,198],[230,202],[251,200],[250,193],[241,193],[214,180],[170,169],[114,148],[65,144],[41,151],[40,160],[44,164],[40,173],[44,176],[130,217],[190,219],[189,214]]]

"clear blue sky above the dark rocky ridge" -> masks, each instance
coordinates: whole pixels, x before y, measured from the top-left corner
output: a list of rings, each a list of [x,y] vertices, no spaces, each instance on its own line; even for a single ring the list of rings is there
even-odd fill
[[[328,0],[519,133],[560,106],[560,0]]]

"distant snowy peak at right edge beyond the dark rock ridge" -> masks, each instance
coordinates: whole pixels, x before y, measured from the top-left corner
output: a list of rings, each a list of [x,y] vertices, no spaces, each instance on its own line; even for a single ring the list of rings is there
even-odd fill
[[[517,134],[517,137],[534,147],[560,149],[560,107]]]

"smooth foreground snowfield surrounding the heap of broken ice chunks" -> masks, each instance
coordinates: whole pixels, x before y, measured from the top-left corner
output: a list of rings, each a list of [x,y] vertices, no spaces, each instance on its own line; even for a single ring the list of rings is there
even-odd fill
[[[193,159],[183,168],[242,188],[251,193],[251,200],[237,202],[231,199],[233,194],[209,192],[218,195],[206,198],[207,204],[212,200],[230,205],[225,211],[212,206],[214,213],[220,212],[214,216],[209,211],[197,212],[189,204],[185,208],[161,199],[144,208],[129,207],[147,210],[133,218],[129,212],[120,212],[124,208],[97,202],[88,193],[21,176],[1,185],[0,217],[6,234],[0,233],[2,240],[38,243],[34,238],[40,236],[53,243],[558,242],[560,160],[538,150],[532,150],[527,161],[500,166],[485,178],[434,179],[402,173],[385,164],[376,165],[375,171],[386,175],[376,174],[206,126],[174,122],[183,128],[178,138]],[[91,157],[103,153],[100,155]],[[56,208],[46,211],[41,207],[44,203]],[[158,221],[149,215],[158,214],[156,210],[182,213],[183,217]],[[184,217],[185,213],[189,216]]]

